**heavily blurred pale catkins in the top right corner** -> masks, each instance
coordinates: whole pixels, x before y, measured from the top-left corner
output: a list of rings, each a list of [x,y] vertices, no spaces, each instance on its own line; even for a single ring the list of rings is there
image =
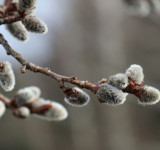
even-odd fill
[[[160,0],[123,0],[129,13],[141,17],[160,15]]]

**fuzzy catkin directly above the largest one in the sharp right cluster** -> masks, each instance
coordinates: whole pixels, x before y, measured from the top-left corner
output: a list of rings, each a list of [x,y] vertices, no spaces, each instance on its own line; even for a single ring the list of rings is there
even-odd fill
[[[124,73],[115,74],[109,77],[108,84],[118,89],[124,89],[128,86],[128,76]]]

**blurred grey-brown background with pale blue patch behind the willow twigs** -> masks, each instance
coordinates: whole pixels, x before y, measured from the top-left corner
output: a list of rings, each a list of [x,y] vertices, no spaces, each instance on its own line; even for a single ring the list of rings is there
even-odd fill
[[[1,3],[3,1],[1,0]],[[125,72],[131,64],[144,69],[145,84],[160,89],[160,16],[132,16],[122,0],[39,0],[36,16],[48,26],[45,35],[30,34],[26,43],[1,26],[10,45],[29,61],[56,73],[97,82]],[[154,18],[154,19],[153,19]],[[8,97],[30,85],[42,97],[67,107],[62,122],[36,118],[19,120],[11,111],[0,120],[0,150],[159,150],[160,104],[143,107],[129,95],[118,107],[100,104],[95,95],[83,108],[64,103],[57,83],[41,74],[20,73],[21,65],[5,54],[0,60],[13,64],[17,84]]]

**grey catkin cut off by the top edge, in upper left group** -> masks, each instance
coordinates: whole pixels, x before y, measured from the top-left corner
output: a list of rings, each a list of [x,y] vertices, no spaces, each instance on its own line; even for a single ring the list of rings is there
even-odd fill
[[[33,13],[36,1],[37,0],[19,0],[18,10],[20,12],[24,12],[27,15],[30,15]]]

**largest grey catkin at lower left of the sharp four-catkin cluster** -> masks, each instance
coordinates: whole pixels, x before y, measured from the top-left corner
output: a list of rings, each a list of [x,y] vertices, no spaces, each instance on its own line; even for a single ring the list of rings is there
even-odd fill
[[[107,83],[101,84],[96,93],[98,99],[109,105],[120,105],[126,100],[127,93],[123,93],[121,90],[113,87]]]

